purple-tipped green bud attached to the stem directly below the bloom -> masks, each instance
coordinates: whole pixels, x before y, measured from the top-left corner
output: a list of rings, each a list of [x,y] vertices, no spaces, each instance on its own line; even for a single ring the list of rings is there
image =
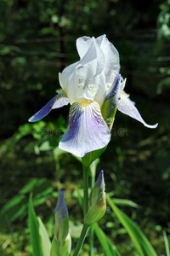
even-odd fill
[[[105,181],[104,172],[101,171],[89,197],[89,208],[84,217],[84,223],[90,225],[99,221],[104,216],[105,210]]]

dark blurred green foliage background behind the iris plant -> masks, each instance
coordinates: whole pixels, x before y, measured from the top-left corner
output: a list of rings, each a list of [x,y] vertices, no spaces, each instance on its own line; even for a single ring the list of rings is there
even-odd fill
[[[31,178],[46,178],[42,190],[48,188],[47,183],[54,191],[65,189],[75,234],[82,212],[72,193],[82,187],[82,166],[71,154],[54,153],[67,126],[69,107],[52,111],[35,126],[24,124],[59,89],[59,71],[78,60],[76,39],[104,33],[119,51],[127,93],[144,120],[159,126],[150,130],[116,113],[111,143],[101,156],[98,173],[105,170],[107,192],[139,205],[122,206],[122,210],[139,224],[156,252],[164,255],[162,230],[170,231],[169,0],[0,1],[0,207]],[[42,190],[35,192],[35,198]],[[26,206],[29,193],[22,192],[21,206]],[[44,203],[37,203],[36,208],[51,236],[53,193],[42,195]],[[112,215],[108,207],[100,223],[103,230],[122,255],[138,255]],[[1,255],[31,255],[26,212],[13,223],[6,222],[0,234]],[[88,241],[83,250],[88,255]],[[102,250],[96,255],[103,255]]]

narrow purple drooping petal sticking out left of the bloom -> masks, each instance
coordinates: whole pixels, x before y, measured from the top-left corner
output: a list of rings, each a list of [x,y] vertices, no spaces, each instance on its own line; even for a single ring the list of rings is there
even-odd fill
[[[68,105],[69,100],[65,94],[64,90],[58,90],[58,94],[54,96],[42,109],[40,109],[37,113],[31,116],[30,119],[28,119],[29,122],[37,122],[44,118],[48,113],[51,111],[51,109],[54,108],[61,108],[65,105]]]

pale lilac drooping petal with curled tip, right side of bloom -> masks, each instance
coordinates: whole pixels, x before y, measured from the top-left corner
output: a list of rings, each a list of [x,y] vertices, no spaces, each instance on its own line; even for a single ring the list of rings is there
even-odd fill
[[[134,106],[134,102],[132,102],[127,94],[125,92],[121,93],[121,99],[118,102],[118,110],[122,113],[125,113],[132,117],[133,119],[138,120],[140,123],[142,123],[145,127],[148,128],[156,128],[158,124],[156,125],[148,125],[144,122],[144,119],[142,119],[138,109]]]

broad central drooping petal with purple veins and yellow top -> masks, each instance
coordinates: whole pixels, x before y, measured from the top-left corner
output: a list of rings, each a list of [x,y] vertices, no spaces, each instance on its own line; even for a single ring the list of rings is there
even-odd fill
[[[88,152],[104,148],[111,140],[97,102],[75,102],[71,105],[69,127],[62,137],[59,148],[83,157]]]

